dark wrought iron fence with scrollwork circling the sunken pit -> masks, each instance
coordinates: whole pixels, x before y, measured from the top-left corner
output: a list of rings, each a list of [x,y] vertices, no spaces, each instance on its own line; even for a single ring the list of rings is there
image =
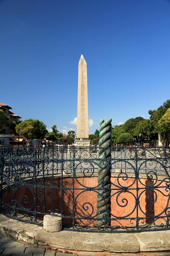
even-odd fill
[[[168,229],[169,159],[169,148],[112,148],[110,161],[103,158],[111,167],[106,188],[97,148],[1,147],[1,213],[37,225],[44,214],[60,214],[64,229],[76,231]],[[107,222],[99,194],[111,202]]]

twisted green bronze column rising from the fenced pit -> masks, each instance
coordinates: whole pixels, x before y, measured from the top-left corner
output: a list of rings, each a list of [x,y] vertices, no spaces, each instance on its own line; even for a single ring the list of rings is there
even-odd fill
[[[111,217],[111,119],[100,119],[97,226],[109,226]]]

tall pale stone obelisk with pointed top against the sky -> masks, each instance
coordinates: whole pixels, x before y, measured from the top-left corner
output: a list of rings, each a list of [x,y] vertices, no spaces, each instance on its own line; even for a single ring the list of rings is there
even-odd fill
[[[78,99],[77,99],[77,146],[89,146],[88,133],[88,92],[87,63],[81,55],[78,62]]]

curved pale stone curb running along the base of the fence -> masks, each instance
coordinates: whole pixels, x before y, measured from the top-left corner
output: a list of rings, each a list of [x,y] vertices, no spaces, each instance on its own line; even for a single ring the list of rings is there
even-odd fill
[[[0,233],[33,246],[90,255],[170,250],[170,230],[140,233],[47,232],[43,227],[0,215]]]

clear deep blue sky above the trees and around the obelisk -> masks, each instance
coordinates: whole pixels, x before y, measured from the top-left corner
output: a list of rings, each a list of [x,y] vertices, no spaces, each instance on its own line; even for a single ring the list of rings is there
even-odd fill
[[[90,133],[100,118],[149,118],[170,95],[169,28],[169,0],[0,0],[0,102],[76,130],[83,54]]]

